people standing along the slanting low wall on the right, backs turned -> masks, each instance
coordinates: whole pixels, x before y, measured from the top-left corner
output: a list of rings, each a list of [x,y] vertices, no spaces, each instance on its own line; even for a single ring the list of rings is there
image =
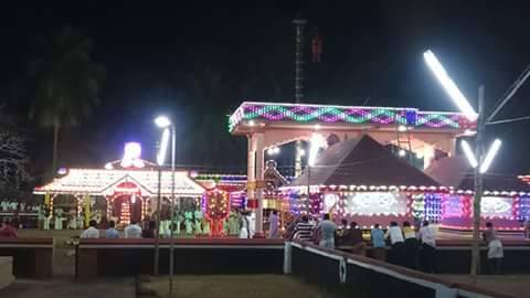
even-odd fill
[[[292,224],[290,230],[290,238],[314,242],[325,248],[365,254],[368,242],[364,241],[362,230],[356,222],[348,223],[341,220],[341,225],[337,226],[329,214],[324,214],[318,223],[311,223],[307,215],[301,215]],[[374,224],[370,231],[372,245],[370,257],[411,269],[435,273],[436,234],[436,225],[428,221],[424,221],[417,230],[407,221],[404,221],[401,226],[393,221],[386,232],[380,224]],[[483,238],[488,246],[489,273],[500,274],[504,257],[502,244],[492,223],[486,223]]]

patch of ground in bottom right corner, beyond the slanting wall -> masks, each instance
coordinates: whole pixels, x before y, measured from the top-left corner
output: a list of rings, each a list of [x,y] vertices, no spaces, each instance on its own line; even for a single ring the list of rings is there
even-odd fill
[[[445,275],[439,277],[455,281],[474,285],[474,280],[469,275]],[[516,297],[530,297],[530,275],[480,275],[478,276],[477,286]]]

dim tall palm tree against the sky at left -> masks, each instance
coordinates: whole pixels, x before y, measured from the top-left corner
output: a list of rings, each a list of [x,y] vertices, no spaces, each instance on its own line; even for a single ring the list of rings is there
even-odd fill
[[[34,79],[30,117],[42,127],[53,128],[55,171],[60,131],[77,126],[99,104],[104,68],[91,58],[92,39],[74,28],[39,36],[35,49],[39,53],[30,64]]]

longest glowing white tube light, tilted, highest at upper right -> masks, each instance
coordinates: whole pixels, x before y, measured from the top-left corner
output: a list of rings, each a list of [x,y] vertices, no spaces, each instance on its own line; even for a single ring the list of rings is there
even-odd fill
[[[453,102],[455,102],[460,111],[466,116],[467,119],[469,119],[470,121],[475,121],[478,117],[477,113],[475,113],[475,109],[469,105],[469,102],[458,89],[455,82],[453,82],[449,75],[447,75],[444,66],[442,66],[434,53],[428,50],[423,53],[423,57],[425,58],[425,62],[427,63],[433,74],[438,79],[439,84],[442,84],[445,92],[449,95]]]

